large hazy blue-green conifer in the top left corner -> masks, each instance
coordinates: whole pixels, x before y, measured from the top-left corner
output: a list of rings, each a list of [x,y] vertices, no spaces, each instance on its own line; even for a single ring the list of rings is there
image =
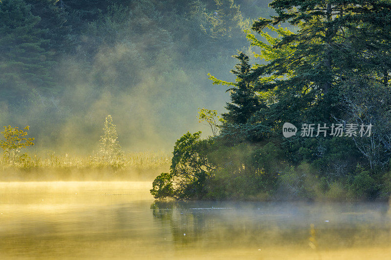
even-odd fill
[[[0,17],[1,98],[18,100],[34,87],[51,88],[52,54],[43,48],[48,40],[37,27],[40,17],[23,0],[2,0]]]

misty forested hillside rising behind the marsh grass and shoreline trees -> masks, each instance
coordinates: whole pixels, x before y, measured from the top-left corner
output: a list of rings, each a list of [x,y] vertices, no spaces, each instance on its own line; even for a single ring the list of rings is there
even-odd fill
[[[196,126],[197,107],[225,102],[207,73],[228,77],[232,54],[249,49],[243,29],[267,5],[1,0],[1,125],[30,125],[37,149],[82,153],[111,114],[124,147],[169,147]]]

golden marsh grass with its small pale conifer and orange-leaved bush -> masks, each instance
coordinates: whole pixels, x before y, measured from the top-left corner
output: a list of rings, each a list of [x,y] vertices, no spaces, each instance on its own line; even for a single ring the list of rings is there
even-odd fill
[[[124,153],[110,115],[104,122],[97,152],[85,157],[57,155],[54,151],[22,153],[23,148],[34,145],[34,138],[27,137],[28,128],[23,131],[4,126],[1,180],[151,180],[156,170],[168,168],[171,161],[171,155],[165,152]]]

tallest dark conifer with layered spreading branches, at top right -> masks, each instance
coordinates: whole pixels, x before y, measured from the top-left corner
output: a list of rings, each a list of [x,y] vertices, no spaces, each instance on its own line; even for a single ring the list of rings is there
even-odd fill
[[[289,121],[290,110],[302,121],[332,121],[341,117],[342,86],[349,77],[387,77],[389,1],[274,0],[270,6],[277,16],[255,21],[253,30],[262,33],[283,22],[299,27],[272,45],[280,52],[289,48],[289,55],[276,56],[252,72],[257,91],[276,93],[270,121]]]

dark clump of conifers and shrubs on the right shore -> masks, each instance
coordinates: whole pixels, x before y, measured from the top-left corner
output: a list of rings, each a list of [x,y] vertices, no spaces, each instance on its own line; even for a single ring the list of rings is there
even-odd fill
[[[215,84],[228,85],[231,96],[220,133],[206,140],[189,133],[179,139],[171,172],[155,180],[152,194],[179,199],[388,198],[390,1],[274,0],[270,6],[276,15],[254,21],[251,28],[262,39],[250,31],[247,35],[260,47],[256,57],[266,62],[250,65],[248,56],[239,53],[232,70],[235,82],[210,76]],[[297,32],[278,26],[284,22]],[[282,137],[285,122],[298,126],[299,133]],[[370,124],[372,132],[311,138],[300,129],[304,124],[338,124],[344,131]],[[188,148],[178,150],[183,145]],[[178,181],[177,169],[183,167],[191,175],[181,173]]]

